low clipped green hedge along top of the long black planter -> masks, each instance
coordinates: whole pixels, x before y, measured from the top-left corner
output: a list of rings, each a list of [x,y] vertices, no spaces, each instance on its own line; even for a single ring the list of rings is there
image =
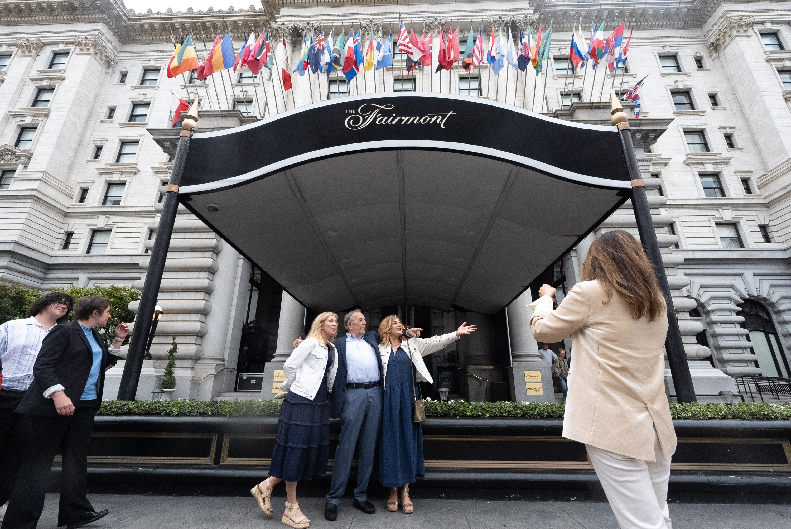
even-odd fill
[[[547,402],[464,402],[426,401],[429,417],[518,417],[518,418],[562,418],[565,404]],[[170,415],[173,417],[198,417],[201,415],[223,415],[225,417],[274,417],[280,410],[280,401],[121,401],[102,402],[98,415]],[[674,419],[791,419],[791,405],[755,404],[740,402],[732,406],[725,404],[671,404],[670,414]]]

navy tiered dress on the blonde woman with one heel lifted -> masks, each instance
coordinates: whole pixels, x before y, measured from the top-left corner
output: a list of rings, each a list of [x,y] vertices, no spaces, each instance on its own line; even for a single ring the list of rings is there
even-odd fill
[[[269,475],[286,482],[301,482],[327,472],[330,459],[330,404],[327,399],[327,373],[332,366],[332,351],[316,397],[311,400],[289,391],[278,417]]]

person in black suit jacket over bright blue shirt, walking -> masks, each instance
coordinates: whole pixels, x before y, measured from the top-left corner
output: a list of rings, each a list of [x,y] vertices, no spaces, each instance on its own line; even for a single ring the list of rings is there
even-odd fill
[[[115,327],[115,342],[108,350],[93,327],[107,324],[110,302],[99,296],[82,297],[74,316],[74,321],[56,326],[44,338],[33,365],[33,382],[17,407],[18,413],[32,416],[32,441],[2,529],[36,527],[58,448],[63,455],[58,527],[76,529],[108,513],[95,512],[85,497],[87,455],[104,390],[104,369],[115,361],[129,327],[126,323]]]

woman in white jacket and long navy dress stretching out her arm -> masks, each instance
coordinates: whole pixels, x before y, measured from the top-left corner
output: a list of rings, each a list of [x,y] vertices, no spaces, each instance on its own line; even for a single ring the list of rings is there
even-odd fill
[[[388,316],[379,325],[379,353],[384,370],[380,482],[390,487],[388,511],[391,512],[398,510],[398,487],[403,486],[400,499],[405,514],[414,511],[409,484],[426,474],[421,425],[412,420],[414,399],[420,395],[414,382],[433,382],[423,357],[444,349],[462,334],[475,332],[475,325],[467,326],[464,322],[456,332],[431,338],[419,338],[420,331],[410,329],[416,338],[403,340],[403,325],[398,316]]]

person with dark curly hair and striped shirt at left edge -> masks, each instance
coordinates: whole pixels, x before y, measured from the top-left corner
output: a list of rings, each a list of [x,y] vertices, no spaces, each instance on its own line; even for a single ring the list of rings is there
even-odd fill
[[[11,319],[0,325],[0,522],[30,444],[30,416],[14,410],[33,381],[33,364],[41,342],[56,323],[66,321],[73,305],[74,300],[66,293],[48,293],[31,304],[29,318]]]

